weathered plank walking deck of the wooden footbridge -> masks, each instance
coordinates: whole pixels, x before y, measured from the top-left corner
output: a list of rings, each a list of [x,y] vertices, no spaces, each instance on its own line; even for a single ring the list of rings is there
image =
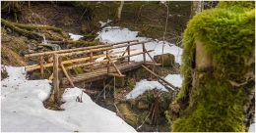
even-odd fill
[[[123,63],[123,64],[119,64],[116,65],[116,67],[118,67],[118,69],[121,72],[125,72],[125,71],[129,71],[138,67],[142,67],[143,62],[129,62],[129,63]],[[117,71],[115,70],[114,67],[109,67],[111,73],[116,73]],[[103,79],[105,77],[107,77],[109,75],[107,75],[107,68],[103,67],[103,68],[99,68],[90,72],[85,72],[82,74],[78,74],[76,76],[71,76],[71,80],[73,82],[79,82],[79,81],[85,81],[85,83],[87,82],[92,82],[92,81],[96,81],[98,79]],[[69,84],[69,81],[66,77],[62,78],[62,83],[63,84]]]

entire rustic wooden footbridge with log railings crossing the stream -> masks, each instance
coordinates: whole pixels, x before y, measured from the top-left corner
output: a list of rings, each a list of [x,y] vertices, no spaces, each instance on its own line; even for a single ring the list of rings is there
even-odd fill
[[[138,67],[144,67],[148,71],[150,71],[155,76],[159,77],[165,84],[169,85],[171,88],[175,88],[170,83],[166,82],[156,73],[151,71],[148,67],[145,66],[160,66],[157,64],[150,52],[154,50],[146,50],[145,45],[147,41],[138,41],[138,40],[129,40],[129,41],[122,41],[117,43],[109,43],[103,45],[96,45],[90,47],[83,47],[83,48],[75,48],[75,49],[66,49],[66,50],[59,50],[59,51],[51,51],[51,52],[44,52],[44,53],[35,53],[30,55],[25,55],[25,58],[30,57],[40,57],[40,62],[36,66],[29,66],[25,67],[26,71],[32,71],[34,69],[40,69],[41,77],[43,78],[44,68],[45,67],[53,67],[53,88],[54,94],[58,95],[59,92],[59,85],[70,84],[72,87],[75,87],[74,82],[85,81],[85,82],[92,82],[98,79],[103,79],[107,76],[118,76],[122,77],[125,76],[122,72],[132,70]],[[130,47],[133,45],[142,45],[142,51],[138,53],[131,54],[131,51],[135,51],[135,49],[131,49]],[[110,53],[112,49],[126,47],[125,51],[118,51]],[[105,53],[105,54],[97,54],[98,52]],[[121,56],[118,56],[120,55]],[[79,56],[78,56],[79,55]],[[132,62],[130,57],[143,55],[142,62]],[[146,63],[146,55],[148,55],[152,62]],[[52,63],[45,64],[45,57],[53,57]],[[72,58],[72,60],[62,61],[63,57]],[[79,57],[79,58],[75,58]],[[105,57],[104,60],[96,61],[97,58]],[[75,64],[76,63],[76,64]],[[68,67],[64,67],[64,65],[72,65]],[[101,68],[97,68],[98,65],[101,65]],[[76,67],[83,67],[83,69],[87,72],[78,74],[78,75],[71,75],[67,72],[67,69],[72,69]],[[65,77],[60,76],[60,73],[64,73]]]

